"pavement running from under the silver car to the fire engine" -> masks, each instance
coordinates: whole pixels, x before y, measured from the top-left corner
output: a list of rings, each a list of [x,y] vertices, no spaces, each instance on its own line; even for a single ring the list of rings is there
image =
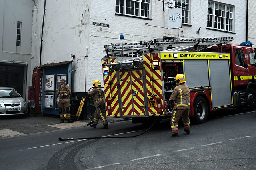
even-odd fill
[[[114,123],[131,119],[107,117],[107,120],[108,123]],[[30,115],[30,117],[25,118],[20,116],[0,117],[0,139],[60,129],[87,127],[88,123],[90,123],[89,120],[79,120],[73,123],[68,123],[65,120],[64,123],[60,124],[58,115],[36,115],[36,117]],[[101,121],[99,121],[99,126],[101,126],[100,124],[102,124]]]

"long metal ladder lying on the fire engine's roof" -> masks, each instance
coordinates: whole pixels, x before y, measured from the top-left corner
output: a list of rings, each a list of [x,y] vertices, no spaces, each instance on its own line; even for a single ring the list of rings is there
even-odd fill
[[[141,41],[135,43],[115,43],[104,45],[109,56],[122,56],[123,53],[143,53],[145,51],[201,51],[211,45],[226,44],[233,41],[233,37],[214,38],[176,38],[176,39],[154,39],[152,41]],[[168,49],[170,48],[170,49]]]

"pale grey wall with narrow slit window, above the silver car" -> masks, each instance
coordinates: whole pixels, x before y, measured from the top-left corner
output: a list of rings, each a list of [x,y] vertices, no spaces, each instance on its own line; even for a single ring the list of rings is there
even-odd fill
[[[0,62],[23,64],[30,72],[33,0],[0,0]],[[17,21],[22,22],[20,47],[16,47]],[[23,96],[31,85],[24,70]]]

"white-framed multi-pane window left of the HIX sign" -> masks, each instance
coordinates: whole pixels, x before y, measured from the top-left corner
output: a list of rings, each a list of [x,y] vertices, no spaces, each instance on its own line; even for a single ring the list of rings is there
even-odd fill
[[[116,0],[116,13],[150,17],[150,0]]]

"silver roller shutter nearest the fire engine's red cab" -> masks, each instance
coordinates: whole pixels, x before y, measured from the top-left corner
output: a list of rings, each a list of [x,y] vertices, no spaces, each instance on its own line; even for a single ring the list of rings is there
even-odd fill
[[[212,107],[232,104],[228,60],[210,60],[210,78],[212,83]]]

